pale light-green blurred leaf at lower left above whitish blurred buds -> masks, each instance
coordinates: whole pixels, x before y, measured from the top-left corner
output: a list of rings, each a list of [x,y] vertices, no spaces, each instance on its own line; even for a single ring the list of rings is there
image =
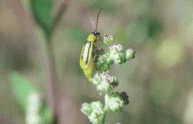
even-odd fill
[[[21,74],[13,72],[10,75],[10,80],[15,91],[16,99],[18,103],[26,111],[28,98],[31,92],[34,92],[34,88],[30,85],[30,82],[27,81]]]

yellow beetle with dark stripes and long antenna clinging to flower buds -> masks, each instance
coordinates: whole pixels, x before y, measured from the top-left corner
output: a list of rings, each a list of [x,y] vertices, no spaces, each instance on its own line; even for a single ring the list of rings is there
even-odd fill
[[[99,32],[97,32],[97,26],[98,26],[98,17],[103,8],[101,8],[97,15],[97,22],[96,22],[96,29],[95,32],[92,32],[88,35],[80,54],[80,67],[82,68],[85,76],[88,78],[89,82],[92,82],[92,71],[94,70],[94,55],[93,55],[93,48],[94,43],[97,41],[97,36],[100,35]]]

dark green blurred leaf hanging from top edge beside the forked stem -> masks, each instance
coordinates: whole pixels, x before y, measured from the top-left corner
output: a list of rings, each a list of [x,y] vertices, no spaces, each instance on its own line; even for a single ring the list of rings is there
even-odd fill
[[[31,6],[37,23],[49,34],[52,25],[51,0],[31,0]]]

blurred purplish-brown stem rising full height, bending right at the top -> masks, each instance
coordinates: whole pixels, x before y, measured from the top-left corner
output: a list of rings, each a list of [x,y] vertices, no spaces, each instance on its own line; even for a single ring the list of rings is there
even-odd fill
[[[66,3],[66,2],[65,2]],[[67,3],[66,4],[62,4],[61,8],[57,14],[57,16],[55,16],[56,18],[53,19],[53,23],[51,26],[51,29],[49,31],[49,33],[47,34],[47,53],[48,53],[48,63],[47,63],[47,69],[48,69],[48,93],[49,93],[49,104],[53,110],[53,112],[55,113],[54,117],[54,122],[53,123],[57,123],[58,120],[58,109],[57,109],[57,105],[58,105],[58,99],[57,99],[57,87],[56,87],[56,83],[59,81],[58,79],[58,74],[57,74],[57,70],[56,70],[56,62],[55,62],[55,57],[54,57],[54,50],[52,47],[52,43],[51,43],[51,38],[53,35],[54,30],[56,29],[56,27],[58,26],[60,20],[62,19],[62,16],[64,15],[64,12],[67,8]]]

